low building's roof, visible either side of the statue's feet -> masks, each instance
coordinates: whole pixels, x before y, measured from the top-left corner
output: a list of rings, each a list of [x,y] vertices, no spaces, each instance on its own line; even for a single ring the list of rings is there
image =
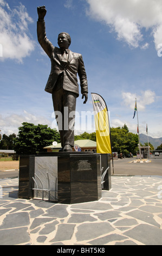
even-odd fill
[[[80,148],[95,148],[96,142],[90,141],[90,139],[77,139],[77,141],[74,142],[74,145],[79,145]],[[61,143],[58,143],[56,147],[54,145],[50,145],[47,147],[44,147],[44,149],[54,149],[54,148],[61,148]]]

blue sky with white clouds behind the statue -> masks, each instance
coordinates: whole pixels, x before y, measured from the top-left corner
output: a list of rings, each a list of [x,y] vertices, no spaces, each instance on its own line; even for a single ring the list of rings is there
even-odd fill
[[[24,121],[55,126],[51,94],[44,91],[50,59],[36,34],[41,5],[48,39],[57,46],[57,35],[68,32],[70,50],[83,56],[89,94],[86,105],[77,98],[76,121],[93,112],[90,93],[98,93],[111,126],[126,124],[137,133],[137,97],[140,133],[148,124],[149,136],[162,137],[161,0],[0,0],[1,134],[17,133]],[[85,130],[76,122],[76,134]]]

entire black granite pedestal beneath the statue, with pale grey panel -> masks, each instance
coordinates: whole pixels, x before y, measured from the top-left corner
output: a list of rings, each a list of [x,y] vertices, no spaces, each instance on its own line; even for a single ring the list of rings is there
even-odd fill
[[[102,172],[107,169],[103,181],[101,167]],[[92,202],[102,197],[102,189],[111,188],[109,174],[107,154],[54,152],[20,156],[18,197],[44,197],[62,204]],[[46,185],[42,185],[44,180]]]

